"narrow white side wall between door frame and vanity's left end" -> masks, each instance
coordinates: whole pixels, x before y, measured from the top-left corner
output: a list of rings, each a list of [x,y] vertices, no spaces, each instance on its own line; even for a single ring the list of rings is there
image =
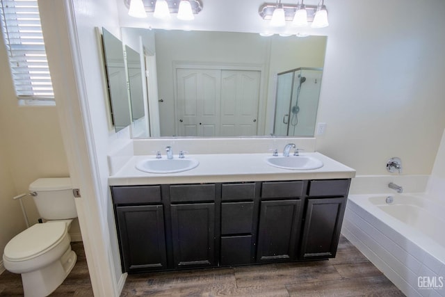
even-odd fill
[[[105,86],[102,82],[102,61],[100,52],[102,49],[97,42],[96,27],[105,27],[113,35],[120,37],[120,26],[118,24],[118,12],[115,3],[102,0],[76,0],[73,1],[76,33],[79,40],[79,51],[81,55],[81,75],[83,76],[83,87],[88,98],[88,110],[86,121],[92,128],[94,143],[92,154],[95,154],[95,170],[100,180],[97,188],[99,209],[101,211],[102,223],[108,228],[108,242],[105,243],[107,250],[111,252],[113,261],[113,275],[115,282],[118,283],[122,278],[120,267],[120,254],[118,249],[118,239],[115,230],[115,221],[113,215],[113,206],[108,188],[108,163],[106,156],[113,143],[119,141],[119,137],[127,139],[125,131],[115,134],[114,131],[108,131],[108,115],[106,109]],[[84,114],[85,115],[85,114]],[[108,248],[110,250],[108,250]]]

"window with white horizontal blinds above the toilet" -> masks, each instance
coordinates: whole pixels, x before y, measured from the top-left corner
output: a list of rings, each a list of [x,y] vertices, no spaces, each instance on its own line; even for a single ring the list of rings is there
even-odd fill
[[[1,31],[18,99],[54,102],[37,0],[0,3]]]

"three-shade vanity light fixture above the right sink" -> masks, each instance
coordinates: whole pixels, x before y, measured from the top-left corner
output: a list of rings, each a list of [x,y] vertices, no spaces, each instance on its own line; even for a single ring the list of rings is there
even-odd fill
[[[275,13],[276,10],[278,10],[277,13]],[[329,26],[324,0],[321,0],[321,5],[306,5],[303,4],[303,2],[301,2],[301,4],[286,4],[281,3],[281,1],[277,3],[264,3],[259,7],[258,13],[262,19],[270,20],[270,26],[277,26],[275,25],[275,14],[280,16],[280,21],[277,21],[280,26],[285,26],[286,21],[290,21],[293,25],[299,27],[306,26],[309,22],[312,22],[312,28]],[[304,21],[305,14],[306,22]],[[316,14],[319,15],[317,20],[315,19]],[[284,21],[282,20],[283,15]]]

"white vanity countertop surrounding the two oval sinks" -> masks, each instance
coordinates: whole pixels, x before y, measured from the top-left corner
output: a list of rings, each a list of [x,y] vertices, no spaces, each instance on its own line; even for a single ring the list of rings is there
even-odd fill
[[[155,174],[136,169],[143,159],[154,159],[154,155],[132,156],[111,177],[110,186],[141,184],[196,184],[210,182],[257,182],[295,179],[341,179],[355,177],[355,170],[318,152],[300,153],[323,161],[323,167],[315,170],[287,170],[268,165],[270,154],[188,154],[200,165],[192,170]],[[164,156],[165,157],[165,156]],[[175,155],[177,158],[177,155]]]

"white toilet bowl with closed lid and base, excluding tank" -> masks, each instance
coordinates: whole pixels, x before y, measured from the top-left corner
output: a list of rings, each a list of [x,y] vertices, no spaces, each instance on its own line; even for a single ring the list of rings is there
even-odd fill
[[[76,264],[69,225],[67,221],[35,224],[6,245],[3,265],[10,272],[22,274],[24,296],[48,296]]]

